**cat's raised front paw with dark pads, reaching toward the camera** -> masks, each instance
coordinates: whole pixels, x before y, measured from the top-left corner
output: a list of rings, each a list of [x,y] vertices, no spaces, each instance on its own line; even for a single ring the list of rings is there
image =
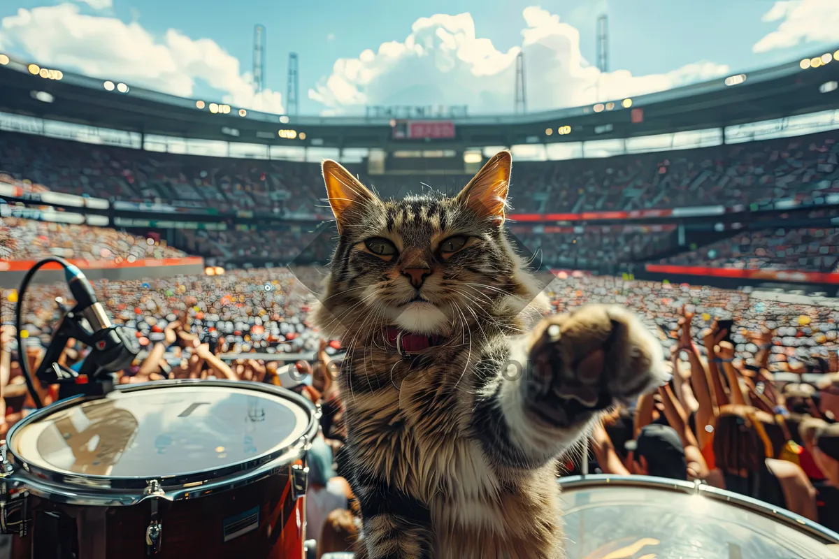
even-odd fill
[[[659,342],[625,309],[590,305],[534,331],[524,397],[544,422],[572,427],[670,378]]]

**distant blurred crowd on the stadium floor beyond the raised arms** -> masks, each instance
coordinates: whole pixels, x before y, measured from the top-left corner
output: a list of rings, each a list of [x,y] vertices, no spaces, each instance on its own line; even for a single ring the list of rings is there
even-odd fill
[[[154,344],[166,325],[185,313],[200,339],[217,338],[226,351],[282,354],[315,350],[316,336],[305,316],[322,278],[317,267],[278,267],[92,283],[115,321],[138,329],[143,345]],[[33,284],[29,289],[23,318],[33,334],[48,335],[55,319],[54,300],[70,300],[69,293],[60,284]],[[770,371],[805,372],[839,355],[839,307],[805,296],[597,276],[557,279],[547,293],[555,312],[587,303],[631,308],[668,350],[675,343],[678,303],[686,301],[696,308],[697,341],[700,330],[715,319],[737,323],[740,329],[731,332],[731,339],[737,358],[745,362],[756,357],[757,349],[743,331],[774,330]],[[16,301],[15,292],[5,292],[3,317],[13,316]]]

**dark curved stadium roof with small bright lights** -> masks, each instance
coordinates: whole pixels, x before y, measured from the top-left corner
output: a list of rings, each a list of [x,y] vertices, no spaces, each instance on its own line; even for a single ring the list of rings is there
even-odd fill
[[[808,60],[805,64],[795,60],[633,97],[629,107],[618,99],[600,106],[525,115],[461,116],[451,119],[456,137],[448,140],[395,139],[388,117],[282,116],[281,120],[279,115],[258,111],[243,111],[245,116],[240,116],[236,106],[228,106],[227,114],[211,112],[211,100],[204,101],[199,109],[197,100],[131,84],[122,93],[122,84],[108,82],[106,89],[103,80],[69,72],[61,73],[56,80],[55,72],[50,73],[55,69],[39,72],[38,66],[21,60],[0,66],[0,111],[161,136],[289,147],[466,148],[581,142],[727,127],[835,109],[839,90],[821,91],[831,89],[825,84],[839,80],[839,60],[833,61],[831,54],[824,53],[814,54],[812,60],[816,59],[828,62],[810,64]],[[51,102],[39,101],[35,96],[38,91],[49,93]],[[633,122],[638,120],[638,109],[643,111],[643,120]],[[571,132],[560,134],[560,127],[571,127]],[[546,133],[549,129],[550,136]],[[294,130],[294,139],[279,137],[280,130]]]

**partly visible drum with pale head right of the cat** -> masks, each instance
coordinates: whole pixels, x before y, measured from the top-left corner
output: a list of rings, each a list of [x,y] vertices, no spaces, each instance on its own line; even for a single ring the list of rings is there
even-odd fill
[[[569,559],[827,559],[839,534],[708,485],[646,476],[560,478]]]

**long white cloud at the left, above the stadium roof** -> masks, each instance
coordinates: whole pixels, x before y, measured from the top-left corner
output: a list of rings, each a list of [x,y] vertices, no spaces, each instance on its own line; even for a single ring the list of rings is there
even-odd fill
[[[175,29],[158,39],[136,21],[83,15],[75,4],[18,9],[0,21],[0,44],[42,65],[176,96],[193,96],[195,80],[204,80],[226,92],[221,101],[232,106],[284,112],[279,92],[254,93],[250,73],[215,41],[190,39]]]

